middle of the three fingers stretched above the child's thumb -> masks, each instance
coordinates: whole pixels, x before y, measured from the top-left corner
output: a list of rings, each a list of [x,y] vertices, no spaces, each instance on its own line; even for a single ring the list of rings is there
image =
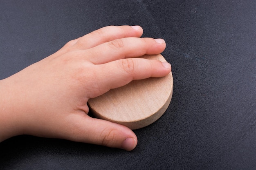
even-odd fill
[[[153,38],[121,38],[84,50],[83,56],[94,63],[104,64],[123,58],[139,57],[144,54],[159,54],[166,44],[163,39]]]

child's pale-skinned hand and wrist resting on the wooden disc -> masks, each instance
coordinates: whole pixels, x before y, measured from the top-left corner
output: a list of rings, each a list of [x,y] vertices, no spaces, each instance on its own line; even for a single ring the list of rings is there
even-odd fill
[[[166,47],[142,33],[140,26],[103,27],[0,80],[0,142],[26,134],[134,149],[135,133],[89,117],[87,102],[134,79],[170,73],[169,63],[136,58]]]

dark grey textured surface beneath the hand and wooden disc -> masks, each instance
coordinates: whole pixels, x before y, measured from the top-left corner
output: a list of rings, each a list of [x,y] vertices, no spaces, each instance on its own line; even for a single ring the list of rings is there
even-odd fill
[[[173,98],[127,152],[62,139],[0,143],[0,169],[255,169],[256,1],[0,0],[0,79],[108,25],[164,38]]]

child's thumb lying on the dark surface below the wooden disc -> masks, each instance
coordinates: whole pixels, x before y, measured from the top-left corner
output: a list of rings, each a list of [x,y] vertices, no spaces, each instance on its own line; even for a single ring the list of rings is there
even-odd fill
[[[86,114],[73,115],[66,126],[65,139],[133,150],[137,137],[126,126],[110,121],[92,118]]]

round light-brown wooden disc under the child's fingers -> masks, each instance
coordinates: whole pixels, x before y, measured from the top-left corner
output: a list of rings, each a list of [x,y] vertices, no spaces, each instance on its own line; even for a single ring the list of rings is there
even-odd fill
[[[141,58],[166,61],[162,55],[144,55]],[[126,86],[89,99],[92,113],[105,119],[138,129],[152,124],[168,108],[173,94],[173,76],[134,80]]]

